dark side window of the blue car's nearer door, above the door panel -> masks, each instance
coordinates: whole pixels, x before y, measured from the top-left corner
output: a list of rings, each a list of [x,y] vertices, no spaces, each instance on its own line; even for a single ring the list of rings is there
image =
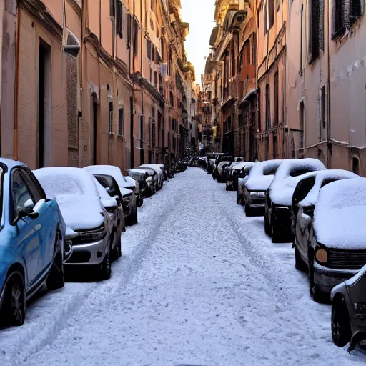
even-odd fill
[[[29,208],[27,208],[29,203],[33,204],[33,206],[36,204],[31,196],[31,192],[26,187],[24,179],[21,177],[20,169],[15,169],[11,174],[11,198],[13,202],[11,221],[14,221],[19,212],[29,212]]]

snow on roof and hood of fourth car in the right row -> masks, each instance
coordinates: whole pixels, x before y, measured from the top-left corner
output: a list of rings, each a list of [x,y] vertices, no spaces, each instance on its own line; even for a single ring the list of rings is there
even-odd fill
[[[245,182],[245,187],[249,191],[267,191],[271,185],[274,174],[266,174],[266,171],[277,169],[283,160],[269,160],[267,162],[259,162],[250,169],[249,177]]]

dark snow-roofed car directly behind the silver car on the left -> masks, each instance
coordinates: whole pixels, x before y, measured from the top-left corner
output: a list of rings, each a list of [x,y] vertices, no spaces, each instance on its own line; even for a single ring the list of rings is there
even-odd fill
[[[121,169],[112,165],[91,165],[84,169],[97,178],[98,182],[107,189],[110,196],[117,195],[120,199],[122,197],[122,204],[125,211],[127,211],[125,215],[126,224],[137,224],[136,181],[134,179],[127,180],[128,177],[123,176]],[[123,189],[128,190],[123,192]]]

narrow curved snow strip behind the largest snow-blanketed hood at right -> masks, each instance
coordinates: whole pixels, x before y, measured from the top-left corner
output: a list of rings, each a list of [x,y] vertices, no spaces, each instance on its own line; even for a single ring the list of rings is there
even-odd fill
[[[311,174],[311,173],[309,173]],[[302,178],[306,179],[307,177]],[[323,170],[322,172],[317,172],[315,175],[315,184],[312,189],[310,189],[309,193],[303,199],[300,204],[304,207],[310,206],[312,204],[315,204],[317,202],[317,197],[319,195],[319,191],[322,188],[323,182],[330,180],[342,180],[342,179],[355,179],[360,178],[357,174],[348,172],[347,170],[342,169],[330,169],[330,170]]]

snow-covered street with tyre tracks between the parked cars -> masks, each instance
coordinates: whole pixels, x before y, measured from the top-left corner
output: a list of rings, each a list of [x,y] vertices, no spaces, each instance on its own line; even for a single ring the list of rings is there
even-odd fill
[[[263,225],[202,170],[177,174],[122,235],[111,280],[35,300],[0,331],[0,365],[365,365]]]

